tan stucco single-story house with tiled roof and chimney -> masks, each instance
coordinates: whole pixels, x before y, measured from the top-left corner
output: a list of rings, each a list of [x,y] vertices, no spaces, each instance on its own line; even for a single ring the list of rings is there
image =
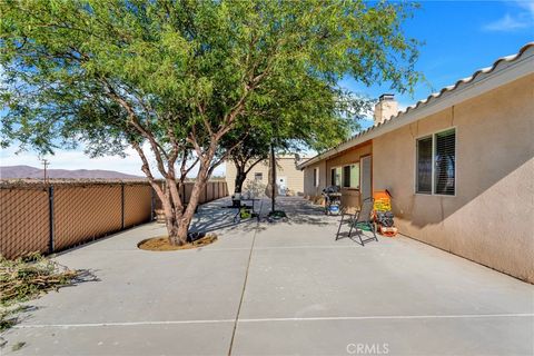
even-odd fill
[[[303,162],[304,194],[389,190],[414,239],[534,283],[534,42]]]

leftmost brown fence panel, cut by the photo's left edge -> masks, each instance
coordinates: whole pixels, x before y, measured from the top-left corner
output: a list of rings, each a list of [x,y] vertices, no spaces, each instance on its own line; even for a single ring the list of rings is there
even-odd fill
[[[48,251],[49,218],[47,188],[0,189],[0,255]]]

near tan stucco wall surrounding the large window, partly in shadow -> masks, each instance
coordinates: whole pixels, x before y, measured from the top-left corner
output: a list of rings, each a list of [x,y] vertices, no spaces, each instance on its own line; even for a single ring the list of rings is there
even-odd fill
[[[456,127],[456,196],[415,194],[415,139]],[[534,76],[373,141],[402,234],[534,283]]]

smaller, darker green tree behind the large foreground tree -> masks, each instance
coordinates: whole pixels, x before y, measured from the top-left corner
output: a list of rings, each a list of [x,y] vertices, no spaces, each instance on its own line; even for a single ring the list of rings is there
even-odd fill
[[[314,78],[280,93],[261,107],[256,126],[236,127],[221,141],[231,149],[228,161],[236,167],[235,192],[241,192],[247,175],[269,156],[271,146],[279,154],[327,149],[357,131],[370,108],[372,100]]]

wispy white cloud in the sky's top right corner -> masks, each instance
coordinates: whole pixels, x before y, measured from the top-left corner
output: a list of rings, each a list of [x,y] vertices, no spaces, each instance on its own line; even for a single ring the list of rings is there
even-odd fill
[[[505,13],[503,18],[483,26],[485,31],[511,32],[534,28],[534,1],[514,1],[514,13]]]

